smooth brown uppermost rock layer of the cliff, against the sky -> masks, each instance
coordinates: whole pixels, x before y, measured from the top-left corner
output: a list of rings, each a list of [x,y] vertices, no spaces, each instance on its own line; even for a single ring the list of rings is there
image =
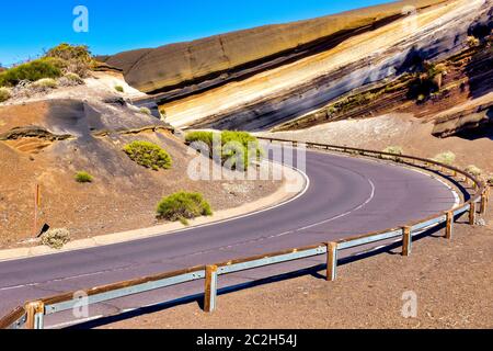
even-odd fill
[[[288,24],[266,25],[188,43],[121,53],[106,58],[135,88],[152,93],[196,91],[335,45],[347,35],[392,21],[413,7],[445,0],[408,0]]]

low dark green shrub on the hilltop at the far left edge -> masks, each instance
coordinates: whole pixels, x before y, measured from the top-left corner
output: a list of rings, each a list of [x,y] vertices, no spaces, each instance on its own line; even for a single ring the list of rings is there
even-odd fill
[[[0,73],[0,86],[14,87],[22,80],[36,81],[61,76],[64,63],[56,58],[39,58]]]

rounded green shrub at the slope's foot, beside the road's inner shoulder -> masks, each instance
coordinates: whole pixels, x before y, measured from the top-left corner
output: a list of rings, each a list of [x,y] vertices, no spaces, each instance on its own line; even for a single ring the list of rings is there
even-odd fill
[[[199,216],[211,216],[213,211],[207,201],[199,193],[177,192],[162,199],[157,208],[158,217],[168,220],[181,220],[186,224],[186,219]]]

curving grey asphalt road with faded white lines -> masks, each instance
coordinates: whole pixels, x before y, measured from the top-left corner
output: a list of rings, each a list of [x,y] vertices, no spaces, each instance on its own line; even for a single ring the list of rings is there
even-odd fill
[[[301,196],[252,216],[131,242],[1,262],[0,315],[27,299],[61,292],[395,227],[449,210],[456,202],[451,190],[429,176],[359,158],[309,150],[307,176],[309,188]],[[221,278],[219,285],[251,282],[323,260],[239,272]],[[108,315],[198,294],[202,284],[119,298],[91,306],[90,313]],[[53,326],[70,319],[70,315],[59,314],[45,322]]]

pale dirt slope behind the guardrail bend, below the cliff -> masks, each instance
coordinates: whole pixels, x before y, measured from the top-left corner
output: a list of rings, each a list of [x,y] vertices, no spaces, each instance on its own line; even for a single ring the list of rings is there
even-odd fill
[[[452,151],[457,157],[456,166],[465,168],[474,165],[485,174],[493,173],[493,125],[474,134],[460,133],[447,138],[433,136],[434,127],[433,122],[416,118],[413,114],[392,113],[374,118],[325,123],[300,131],[259,135],[375,150],[401,146],[404,154],[425,158]]]

